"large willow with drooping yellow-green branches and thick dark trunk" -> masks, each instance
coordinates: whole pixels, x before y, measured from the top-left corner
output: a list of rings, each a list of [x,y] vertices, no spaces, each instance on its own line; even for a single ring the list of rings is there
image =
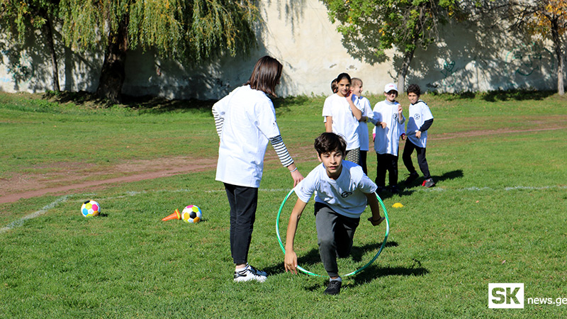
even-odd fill
[[[129,50],[198,63],[255,43],[253,0],[62,0],[63,36],[76,50],[106,48],[96,93],[120,101]]]

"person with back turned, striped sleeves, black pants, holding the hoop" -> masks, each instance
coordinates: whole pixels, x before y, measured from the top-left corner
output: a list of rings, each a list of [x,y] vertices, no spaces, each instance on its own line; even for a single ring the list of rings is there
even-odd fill
[[[213,106],[220,144],[216,180],[225,184],[230,204],[230,252],[235,263],[234,281],[266,280],[266,272],[248,264],[248,250],[256,217],[258,188],[268,141],[281,164],[289,169],[296,186],[303,176],[283,144],[274,104],[281,63],[265,56],[256,62],[249,81]]]

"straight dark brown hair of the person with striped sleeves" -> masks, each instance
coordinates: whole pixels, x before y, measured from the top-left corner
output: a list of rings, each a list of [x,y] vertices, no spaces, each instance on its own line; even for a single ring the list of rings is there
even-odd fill
[[[251,89],[276,96],[276,85],[279,84],[282,68],[281,63],[273,57],[268,55],[260,57],[245,85],[249,85]]]

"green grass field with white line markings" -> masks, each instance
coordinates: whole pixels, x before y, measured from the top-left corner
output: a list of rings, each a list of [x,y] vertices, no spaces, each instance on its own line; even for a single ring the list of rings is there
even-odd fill
[[[292,181],[269,147],[249,254],[269,273],[264,284],[232,282],[228,202],[207,169],[0,204],[0,318],[565,318],[567,305],[533,298],[567,298],[567,99],[545,92],[422,98],[435,117],[427,159],[437,186],[382,194],[391,222],[386,248],[344,279],[339,296],[322,294],[325,278],[283,272],[275,218]],[[323,128],[323,100],[275,101],[304,175],[318,164],[313,139]],[[399,101],[407,116],[407,99]],[[62,164],[99,172],[179,155],[214,163],[218,147],[204,104],[92,108],[21,94],[0,94],[0,137],[0,181],[64,174]],[[401,160],[399,167],[405,172]],[[371,179],[375,169],[369,154]],[[89,198],[101,203],[101,216],[80,215]],[[293,201],[282,213],[284,230]],[[391,208],[396,202],[403,208]],[[161,221],[190,203],[203,210],[201,223]],[[296,238],[299,262],[322,273],[308,208]],[[371,259],[384,230],[361,223],[341,273]],[[489,283],[523,283],[524,308],[488,308]]]

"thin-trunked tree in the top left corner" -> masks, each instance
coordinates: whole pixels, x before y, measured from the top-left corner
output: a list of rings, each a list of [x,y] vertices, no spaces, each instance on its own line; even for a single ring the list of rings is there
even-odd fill
[[[58,0],[0,0],[0,17],[11,26],[12,40],[24,43],[29,31],[41,30],[50,53],[52,84],[60,91],[57,53],[53,41],[52,24],[57,16]]]

